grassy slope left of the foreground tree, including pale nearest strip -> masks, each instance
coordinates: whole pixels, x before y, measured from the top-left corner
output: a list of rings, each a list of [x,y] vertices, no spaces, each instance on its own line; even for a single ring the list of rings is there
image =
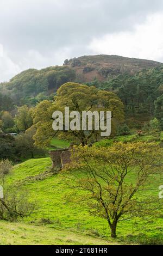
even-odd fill
[[[0,222],[1,244],[108,244],[104,240],[107,237],[102,240],[97,230],[91,229],[92,225],[96,225],[93,218],[92,225],[91,220],[87,220],[87,228],[84,226],[83,217],[89,216],[86,211],[73,208],[62,199],[69,189],[61,183],[59,175],[37,180],[37,175],[48,170],[50,166],[49,158],[28,160],[14,167],[7,176],[7,182],[9,185],[23,185],[38,202],[37,211],[25,220],[26,223],[32,221],[37,225],[41,218],[50,218],[52,223],[47,227],[37,227],[31,224]],[[10,232],[12,229],[13,232]],[[44,232],[46,234],[43,235]],[[115,242],[109,242],[113,243]]]

